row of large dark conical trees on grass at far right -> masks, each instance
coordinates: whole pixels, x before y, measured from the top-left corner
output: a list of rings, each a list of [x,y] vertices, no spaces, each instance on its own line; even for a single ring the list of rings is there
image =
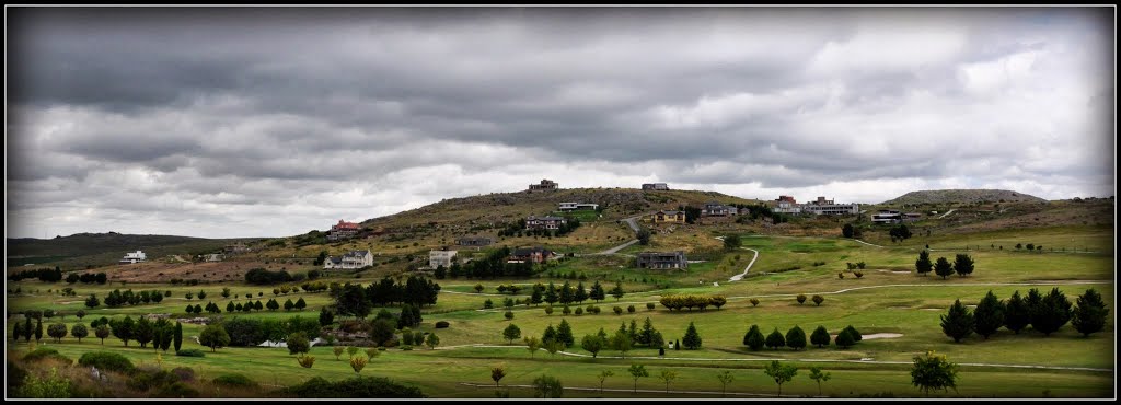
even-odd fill
[[[1031,288],[1025,298],[1016,291],[1007,302],[989,291],[972,312],[962,305],[961,300],[955,300],[949,311],[942,315],[942,331],[953,338],[954,342],[961,342],[974,332],[988,340],[1002,326],[1019,334],[1031,325],[1032,330],[1048,337],[1067,322],[1083,337],[1102,331],[1109,310],[1101,294],[1093,288],[1087,289],[1078,297],[1077,304],[1077,307],[1072,309],[1071,302],[1058,287],[1047,295]]]

